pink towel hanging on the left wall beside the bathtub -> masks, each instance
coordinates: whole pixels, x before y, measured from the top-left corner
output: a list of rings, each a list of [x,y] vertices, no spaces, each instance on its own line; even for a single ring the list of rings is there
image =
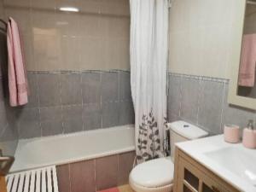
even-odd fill
[[[9,18],[7,29],[8,75],[10,106],[25,105],[28,100],[26,65],[20,42],[19,28],[15,20]]]

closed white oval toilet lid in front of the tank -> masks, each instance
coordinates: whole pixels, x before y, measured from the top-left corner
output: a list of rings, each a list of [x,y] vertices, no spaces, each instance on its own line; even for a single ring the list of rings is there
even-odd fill
[[[174,165],[170,158],[149,160],[133,168],[131,182],[144,187],[160,187],[172,183]]]

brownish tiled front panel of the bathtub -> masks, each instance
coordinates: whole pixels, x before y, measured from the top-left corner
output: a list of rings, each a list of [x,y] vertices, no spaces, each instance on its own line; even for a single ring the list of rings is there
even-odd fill
[[[60,192],[95,192],[129,183],[134,152],[57,166]]]

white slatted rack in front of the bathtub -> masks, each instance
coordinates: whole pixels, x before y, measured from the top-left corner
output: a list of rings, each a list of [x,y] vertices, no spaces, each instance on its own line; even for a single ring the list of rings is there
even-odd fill
[[[6,176],[8,192],[59,192],[55,166]]]

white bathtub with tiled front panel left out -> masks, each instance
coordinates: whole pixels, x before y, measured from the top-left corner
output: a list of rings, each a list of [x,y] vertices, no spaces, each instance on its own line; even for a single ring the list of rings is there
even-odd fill
[[[10,172],[90,160],[134,149],[133,125],[23,139],[18,143],[15,163]]]

